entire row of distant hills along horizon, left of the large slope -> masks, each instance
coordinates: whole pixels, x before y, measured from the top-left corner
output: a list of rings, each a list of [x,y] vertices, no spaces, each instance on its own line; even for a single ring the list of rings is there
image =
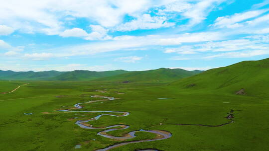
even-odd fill
[[[7,80],[93,80],[94,82],[167,82],[199,74],[203,71],[166,69],[135,71],[125,70],[93,72],[76,70],[72,72],[13,72],[0,71],[0,79]]]

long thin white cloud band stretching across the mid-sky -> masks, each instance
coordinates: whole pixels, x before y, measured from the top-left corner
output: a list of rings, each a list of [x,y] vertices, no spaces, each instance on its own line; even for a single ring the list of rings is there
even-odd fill
[[[110,41],[93,42],[68,47],[58,47],[44,50],[53,53],[54,57],[85,56],[96,53],[105,53],[117,50],[145,49],[152,46],[179,45],[189,42],[207,42],[220,40],[225,34],[216,32],[203,32],[178,35],[148,35],[148,36],[118,36]]]

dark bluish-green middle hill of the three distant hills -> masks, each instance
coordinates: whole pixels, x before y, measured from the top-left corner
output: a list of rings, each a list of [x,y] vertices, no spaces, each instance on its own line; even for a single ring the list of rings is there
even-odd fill
[[[73,72],[66,72],[64,74],[55,76],[51,78],[51,80],[92,80],[100,77],[120,75],[125,73],[128,73],[128,71],[116,70],[107,72],[92,72],[92,71],[76,70]]]

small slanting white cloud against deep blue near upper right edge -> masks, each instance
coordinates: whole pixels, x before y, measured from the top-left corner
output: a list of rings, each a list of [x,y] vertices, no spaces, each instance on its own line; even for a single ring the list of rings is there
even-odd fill
[[[218,17],[215,20],[215,23],[213,24],[214,27],[227,27],[227,28],[237,28],[237,27],[242,27],[244,26],[243,24],[239,24],[239,22],[257,17],[264,12],[268,11],[268,9],[261,9],[261,10],[252,10],[252,11],[247,11],[243,13],[235,13],[230,16],[223,16],[223,17]]]

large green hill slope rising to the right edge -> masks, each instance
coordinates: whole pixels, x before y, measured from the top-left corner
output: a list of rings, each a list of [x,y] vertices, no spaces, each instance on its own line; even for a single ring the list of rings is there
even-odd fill
[[[269,59],[244,61],[228,67],[208,70],[170,84],[186,91],[211,91],[235,94],[241,88],[247,95],[268,95]]]

